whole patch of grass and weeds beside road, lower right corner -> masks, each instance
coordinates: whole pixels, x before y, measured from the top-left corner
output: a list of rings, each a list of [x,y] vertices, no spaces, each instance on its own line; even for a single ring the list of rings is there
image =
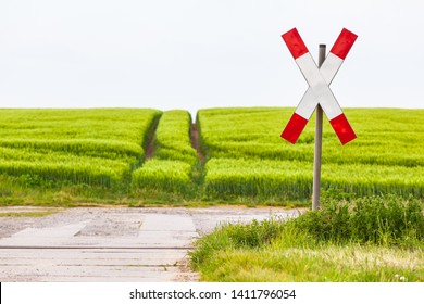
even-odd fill
[[[422,201],[378,197],[227,224],[198,241],[191,266],[204,281],[422,282],[423,212]]]

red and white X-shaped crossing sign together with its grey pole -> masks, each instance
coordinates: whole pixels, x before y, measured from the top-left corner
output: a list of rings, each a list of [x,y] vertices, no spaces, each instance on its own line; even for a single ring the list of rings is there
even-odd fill
[[[357,138],[329,85],[344,63],[358,36],[344,28],[326,55],[326,46],[320,45],[319,66],[310,54],[299,31],[295,28],[282,35],[309,88],[291,115],[280,137],[296,143],[313,112],[316,112],[315,153],[313,160],[312,210],[320,208],[323,112],[341,144]]]

